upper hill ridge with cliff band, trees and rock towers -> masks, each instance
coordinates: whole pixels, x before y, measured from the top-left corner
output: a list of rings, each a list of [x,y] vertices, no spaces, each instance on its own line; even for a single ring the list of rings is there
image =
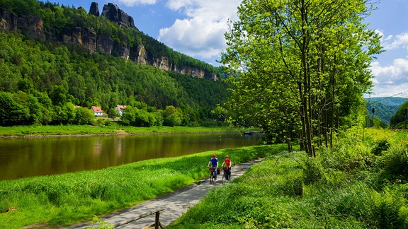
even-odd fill
[[[176,52],[142,33],[132,17],[115,4],[106,4],[101,13],[96,2],[91,4],[89,13],[84,8],[35,0],[1,0],[0,8],[1,28],[34,40],[78,45],[91,54],[111,54],[197,78],[217,80],[221,76],[218,68]]]

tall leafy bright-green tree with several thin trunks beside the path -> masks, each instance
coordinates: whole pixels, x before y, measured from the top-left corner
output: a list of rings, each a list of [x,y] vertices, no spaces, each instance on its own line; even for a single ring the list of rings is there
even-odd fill
[[[311,156],[316,144],[332,146],[334,131],[363,105],[372,86],[368,66],[381,51],[378,34],[362,23],[366,3],[242,1],[222,54],[239,72],[227,107],[278,131],[289,150],[293,134]]]

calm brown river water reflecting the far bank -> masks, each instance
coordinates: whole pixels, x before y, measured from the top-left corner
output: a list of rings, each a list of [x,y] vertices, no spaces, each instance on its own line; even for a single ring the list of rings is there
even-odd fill
[[[254,146],[260,137],[215,133],[0,139],[0,180],[99,170],[152,158]]]

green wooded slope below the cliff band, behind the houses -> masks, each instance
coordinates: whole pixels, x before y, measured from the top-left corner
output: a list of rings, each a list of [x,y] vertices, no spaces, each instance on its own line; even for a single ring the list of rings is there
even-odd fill
[[[204,95],[200,95],[202,91],[189,90],[187,93],[175,78],[169,77],[167,73],[153,66],[138,66],[122,59],[99,54],[94,54],[93,57],[86,59],[76,52],[69,52],[67,47],[56,46],[48,49],[40,43],[24,42],[19,38],[16,40],[13,34],[0,33],[0,38],[4,38],[4,46],[11,47],[13,52],[18,52],[21,59],[33,60],[31,64],[26,62],[21,62],[19,65],[11,62],[4,63],[6,64],[5,69],[18,69],[18,71],[26,72],[26,75],[30,77],[21,78],[20,74],[10,72],[11,76],[6,74],[0,79],[0,88],[2,85],[4,90],[9,90],[13,94],[18,93],[18,88],[20,88],[27,94],[22,98],[32,101],[15,101],[22,104],[23,107],[26,106],[26,110],[30,110],[30,116],[26,119],[20,118],[21,122],[3,125],[79,123],[79,121],[72,120],[67,110],[64,109],[68,102],[85,108],[91,105],[101,105],[106,111],[113,109],[118,104],[132,105],[132,102],[142,102],[146,107],[154,107],[152,112],[157,108],[164,109],[172,105],[178,109],[182,107],[180,114],[183,113],[183,115],[179,115],[179,118],[183,124],[188,124],[189,120],[207,119],[211,115],[209,111],[213,109],[212,106],[215,107],[213,102],[200,102],[198,105],[196,101],[191,100],[190,96],[205,101],[202,97]],[[7,39],[13,40],[13,44],[6,45],[8,44]],[[37,45],[40,45],[42,50]],[[108,61],[109,65],[106,64]],[[49,62],[50,64],[46,64]],[[201,90],[215,93],[208,98],[217,97],[222,100],[227,96],[225,93],[220,93],[226,90],[225,83],[210,80],[200,81],[198,78],[191,78],[191,82],[197,86],[202,82]],[[16,97],[21,96],[16,95]],[[31,107],[28,107],[30,105]],[[197,109],[198,107],[200,108]],[[198,110],[207,112],[200,113]],[[148,116],[147,123],[143,121],[132,122],[132,124],[144,126],[155,124],[154,118],[157,119],[155,117],[157,114],[148,114]],[[18,117],[21,115],[15,116],[15,119]],[[158,125],[164,122],[161,122],[161,119],[160,117],[157,119],[159,120]]]

